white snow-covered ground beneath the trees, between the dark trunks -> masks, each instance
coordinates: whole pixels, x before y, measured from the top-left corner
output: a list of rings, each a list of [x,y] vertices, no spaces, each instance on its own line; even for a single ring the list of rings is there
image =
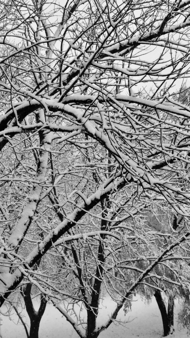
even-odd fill
[[[152,302],[147,305],[140,299],[135,297],[132,304],[132,311],[126,316],[123,310],[118,314],[120,324],[116,322],[111,324],[110,327],[99,335],[99,338],[158,338],[162,337],[163,328],[161,314],[154,297]],[[38,306],[35,302],[35,306]],[[101,312],[98,317],[99,323],[103,322],[107,316],[114,309],[114,302],[106,297],[101,305]],[[179,312],[180,305],[178,301],[175,303],[175,332],[171,338],[186,338],[187,330],[180,330],[177,325],[177,313]],[[3,309],[1,309],[3,312]],[[5,308],[4,308],[5,310]],[[1,335],[2,338],[25,338],[26,333],[23,325],[18,322],[17,315],[12,311],[11,319],[8,317],[2,318]],[[84,313],[85,315],[85,313]],[[27,314],[25,312],[27,318]],[[25,318],[25,319],[26,319]],[[28,319],[28,318],[27,318]],[[62,317],[61,313],[51,305],[47,305],[44,316],[42,317],[39,338],[78,338],[79,336],[74,331],[70,323]]]

